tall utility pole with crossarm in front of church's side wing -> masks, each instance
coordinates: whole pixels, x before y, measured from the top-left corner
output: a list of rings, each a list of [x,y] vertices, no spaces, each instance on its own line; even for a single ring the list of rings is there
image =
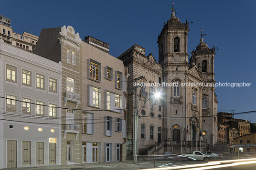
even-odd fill
[[[138,78],[133,79],[133,82],[137,83],[138,80],[144,78],[144,76],[139,76]],[[137,156],[138,156],[138,113],[137,113],[137,89],[140,86],[135,85],[132,88],[129,88],[128,90],[134,89],[134,98],[135,98],[135,104],[134,104],[134,137],[133,137],[133,164],[137,164]]]

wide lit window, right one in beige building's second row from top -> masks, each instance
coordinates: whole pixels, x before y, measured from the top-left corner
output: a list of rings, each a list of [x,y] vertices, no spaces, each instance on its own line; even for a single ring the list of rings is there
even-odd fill
[[[120,110],[116,110],[120,109]],[[122,113],[122,96],[106,90],[106,110]]]

